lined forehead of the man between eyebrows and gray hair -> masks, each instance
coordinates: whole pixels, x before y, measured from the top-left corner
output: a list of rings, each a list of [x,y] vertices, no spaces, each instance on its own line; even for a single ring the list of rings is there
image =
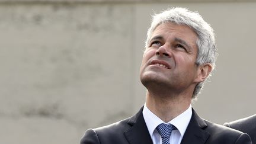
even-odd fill
[[[165,39],[178,38],[183,39],[190,44],[194,45],[197,41],[197,34],[194,30],[187,25],[174,24],[174,23],[162,23],[159,24],[152,32],[152,37],[162,36]]]

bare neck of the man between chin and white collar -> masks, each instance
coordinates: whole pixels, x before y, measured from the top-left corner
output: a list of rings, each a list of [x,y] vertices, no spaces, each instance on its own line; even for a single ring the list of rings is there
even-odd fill
[[[189,95],[155,95],[146,94],[146,106],[165,123],[171,121],[190,107]]]

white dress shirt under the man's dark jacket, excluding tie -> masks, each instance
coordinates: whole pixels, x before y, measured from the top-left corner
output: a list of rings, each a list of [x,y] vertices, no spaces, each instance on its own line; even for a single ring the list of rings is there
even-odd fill
[[[146,104],[144,105],[143,111],[142,111],[143,117],[146,122],[146,126],[148,127],[149,134],[151,135],[153,144],[162,144],[162,138],[158,131],[156,130],[156,127],[161,124],[165,123],[162,121],[159,117],[157,117],[155,114],[153,114],[148,107],[146,107]],[[188,123],[190,122],[192,116],[192,108],[191,105],[188,107],[187,110],[185,110],[183,113],[169,121],[169,124],[174,125],[177,130],[172,130],[171,136],[170,136],[170,143],[171,144],[180,144],[181,140],[184,136],[185,130],[187,129]],[[167,124],[168,124],[167,123]]]

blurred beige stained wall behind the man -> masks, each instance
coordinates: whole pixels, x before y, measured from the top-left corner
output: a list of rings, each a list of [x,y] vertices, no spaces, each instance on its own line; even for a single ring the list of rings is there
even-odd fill
[[[256,2],[0,0],[0,143],[79,143],[85,130],[132,116],[151,15],[198,11],[219,57],[193,103],[223,124],[256,113]]]

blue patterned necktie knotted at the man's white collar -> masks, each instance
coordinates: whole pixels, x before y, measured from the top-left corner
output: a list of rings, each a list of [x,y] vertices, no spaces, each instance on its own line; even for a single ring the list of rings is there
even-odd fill
[[[172,130],[177,129],[172,124],[165,124],[161,123],[156,127],[156,130],[158,130],[158,133],[162,137],[162,144],[170,144],[169,143],[169,137],[171,136]]]

